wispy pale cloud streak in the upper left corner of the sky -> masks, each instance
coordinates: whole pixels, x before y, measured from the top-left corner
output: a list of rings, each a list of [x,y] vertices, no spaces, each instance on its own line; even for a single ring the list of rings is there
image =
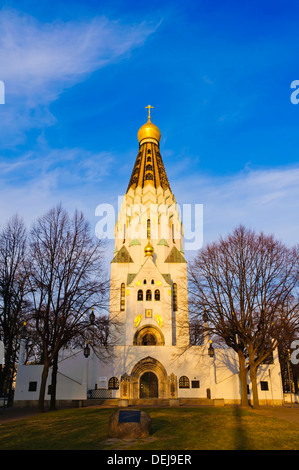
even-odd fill
[[[159,23],[124,24],[107,17],[41,23],[3,8],[0,11],[0,79],[6,86],[1,137],[16,142],[30,128],[52,125],[48,109],[67,88],[144,44]]]

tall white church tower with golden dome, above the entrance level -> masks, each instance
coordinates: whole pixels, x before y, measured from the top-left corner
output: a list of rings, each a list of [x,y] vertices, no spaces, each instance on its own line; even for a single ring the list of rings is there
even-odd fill
[[[189,342],[183,226],[160,153],[161,133],[147,108],[115,226],[110,318],[114,344],[183,346]]]

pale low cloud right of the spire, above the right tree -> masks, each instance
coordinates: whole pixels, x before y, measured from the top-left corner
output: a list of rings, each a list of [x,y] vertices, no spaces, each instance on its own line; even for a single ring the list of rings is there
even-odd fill
[[[243,223],[299,242],[299,168],[246,170],[231,176],[192,176],[172,185],[179,204],[203,204],[204,243]],[[196,188],[196,189],[195,189]]]

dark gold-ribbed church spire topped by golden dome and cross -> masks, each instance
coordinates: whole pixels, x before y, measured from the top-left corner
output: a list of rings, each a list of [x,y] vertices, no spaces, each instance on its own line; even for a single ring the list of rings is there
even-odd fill
[[[159,128],[151,122],[151,109],[148,105],[148,121],[143,124],[138,131],[139,152],[135,161],[131,179],[127,192],[140,186],[143,188],[146,184],[153,185],[156,189],[169,189],[170,185],[160,154],[159,142],[161,132]]]

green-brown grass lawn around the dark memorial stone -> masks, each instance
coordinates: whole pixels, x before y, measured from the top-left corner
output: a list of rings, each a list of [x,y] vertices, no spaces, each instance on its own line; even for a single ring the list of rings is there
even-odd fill
[[[108,437],[114,409],[76,408],[0,426],[0,450],[299,450],[299,425],[240,408],[146,408],[147,439]]]

